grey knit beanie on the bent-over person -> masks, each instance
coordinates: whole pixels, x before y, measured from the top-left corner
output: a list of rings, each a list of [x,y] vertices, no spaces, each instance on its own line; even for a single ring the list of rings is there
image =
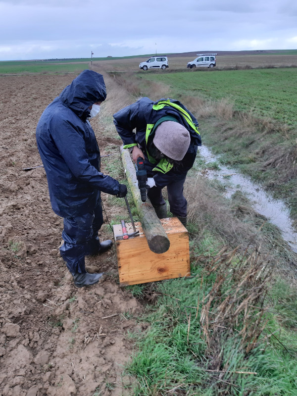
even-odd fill
[[[190,133],[175,121],[164,121],[155,130],[153,144],[164,155],[181,161],[190,146]]]

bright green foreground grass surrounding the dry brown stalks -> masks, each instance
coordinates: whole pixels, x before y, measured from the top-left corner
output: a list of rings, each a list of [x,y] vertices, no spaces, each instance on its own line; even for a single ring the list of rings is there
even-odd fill
[[[267,294],[268,325],[254,349],[246,353],[238,333],[226,329],[218,333],[213,346],[214,351],[219,347],[220,353],[210,353],[200,325],[201,307],[198,315],[196,307],[211,291],[216,271],[206,276],[202,263],[194,264],[194,257],[217,254],[215,246],[219,247],[219,242],[207,232],[198,245],[192,244],[194,276],[156,284],[160,297],[141,319],[149,324],[148,330],[133,335],[139,347],[128,367],[137,379],[134,395],[167,395],[176,387],[176,395],[297,395],[297,293],[285,281],[277,281]],[[222,291],[229,287],[230,279]],[[138,295],[139,286],[129,287],[134,288]],[[220,370],[226,371],[221,377],[207,371],[217,360],[221,361]]]

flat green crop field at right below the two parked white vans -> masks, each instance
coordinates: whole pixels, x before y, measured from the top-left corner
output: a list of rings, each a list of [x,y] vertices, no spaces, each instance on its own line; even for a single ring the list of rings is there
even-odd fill
[[[229,99],[234,109],[297,126],[297,68],[148,73],[175,95]]]

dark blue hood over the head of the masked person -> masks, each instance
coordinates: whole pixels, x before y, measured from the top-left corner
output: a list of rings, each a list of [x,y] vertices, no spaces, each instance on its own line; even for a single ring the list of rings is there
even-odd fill
[[[59,99],[81,117],[84,112],[90,112],[88,107],[92,104],[106,99],[103,76],[93,70],[84,70],[63,89]]]

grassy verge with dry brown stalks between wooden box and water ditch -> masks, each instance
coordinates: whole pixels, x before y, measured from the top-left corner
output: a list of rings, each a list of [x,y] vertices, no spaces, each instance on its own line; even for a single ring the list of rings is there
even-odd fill
[[[117,159],[107,161],[120,177]],[[295,395],[297,293],[272,270],[290,273],[296,256],[245,197],[229,201],[220,186],[197,180],[204,168],[198,158],[185,189],[191,277],[128,287],[146,305],[138,320],[148,324],[130,334],[138,347],[126,369],[133,394]]]

